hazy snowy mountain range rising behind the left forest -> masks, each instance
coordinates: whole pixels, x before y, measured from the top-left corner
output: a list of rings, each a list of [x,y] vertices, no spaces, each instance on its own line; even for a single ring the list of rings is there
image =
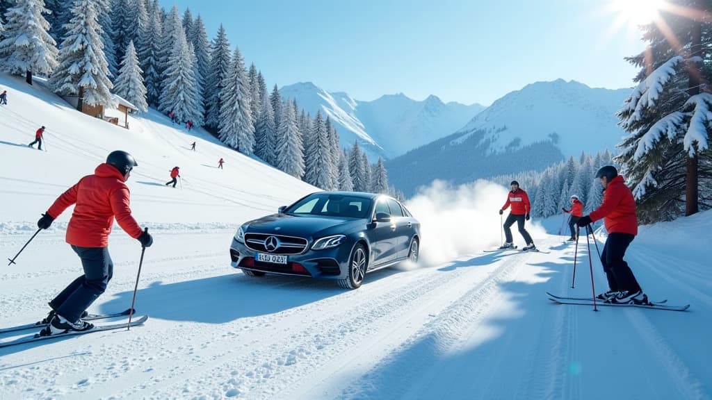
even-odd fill
[[[282,98],[296,99],[311,115],[318,110],[328,115],[339,131],[341,144],[350,146],[358,140],[371,158],[397,157],[444,137],[484,109],[478,104],[445,104],[433,95],[417,101],[402,93],[359,101],[347,93],[329,93],[311,82],[284,86],[279,91]]]

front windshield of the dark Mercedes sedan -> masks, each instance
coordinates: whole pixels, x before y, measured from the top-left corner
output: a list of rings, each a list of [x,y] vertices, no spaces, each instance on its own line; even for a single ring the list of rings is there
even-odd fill
[[[296,215],[366,218],[372,201],[367,197],[343,194],[312,194],[297,201],[284,212]]]

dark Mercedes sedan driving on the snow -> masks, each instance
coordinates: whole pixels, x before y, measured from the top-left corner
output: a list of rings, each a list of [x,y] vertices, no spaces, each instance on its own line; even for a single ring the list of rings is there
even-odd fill
[[[420,223],[396,199],[320,191],[244,223],[230,257],[246,275],[333,279],[356,289],[372,270],[403,260],[417,263],[419,243]]]

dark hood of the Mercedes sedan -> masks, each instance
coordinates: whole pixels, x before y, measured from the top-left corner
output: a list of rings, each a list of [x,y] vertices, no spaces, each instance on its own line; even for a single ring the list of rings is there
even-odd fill
[[[362,226],[363,219],[333,216],[295,216],[272,214],[249,221],[246,233],[273,233],[287,236],[323,236],[348,233],[352,227]]]

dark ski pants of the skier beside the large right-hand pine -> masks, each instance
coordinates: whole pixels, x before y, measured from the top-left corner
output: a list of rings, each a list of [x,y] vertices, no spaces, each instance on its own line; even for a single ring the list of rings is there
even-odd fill
[[[623,257],[635,238],[630,233],[610,233],[601,253],[601,263],[608,279],[610,290],[641,290],[633,271]]]

